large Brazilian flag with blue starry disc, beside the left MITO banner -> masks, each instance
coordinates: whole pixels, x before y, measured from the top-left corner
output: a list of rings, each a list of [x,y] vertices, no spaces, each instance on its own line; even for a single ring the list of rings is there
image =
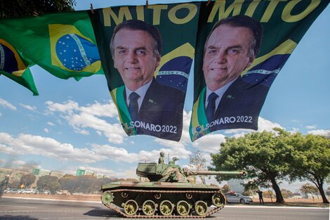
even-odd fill
[[[61,79],[103,74],[86,11],[4,19],[0,32],[33,63]]]

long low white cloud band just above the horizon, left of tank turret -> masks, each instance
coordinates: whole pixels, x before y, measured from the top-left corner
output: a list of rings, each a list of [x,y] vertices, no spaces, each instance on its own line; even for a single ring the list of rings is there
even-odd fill
[[[91,144],[91,148],[74,148],[70,143],[60,143],[53,138],[34,136],[31,134],[20,134],[17,138],[10,134],[0,133],[1,153],[11,155],[41,155],[51,157],[60,161],[76,161],[82,163],[100,162],[112,160],[115,162],[136,163],[136,162],[156,162],[159,153],[164,151],[171,157],[183,158],[187,154],[185,149],[166,149],[130,153],[124,148],[117,148],[111,145]]]

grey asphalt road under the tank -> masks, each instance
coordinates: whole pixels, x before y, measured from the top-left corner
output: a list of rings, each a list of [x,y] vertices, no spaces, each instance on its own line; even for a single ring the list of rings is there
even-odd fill
[[[66,220],[123,219],[100,202],[67,202],[1,198],[0,219]],[[328,220],[329,208],[227,205],[206,219],[225,220]]]

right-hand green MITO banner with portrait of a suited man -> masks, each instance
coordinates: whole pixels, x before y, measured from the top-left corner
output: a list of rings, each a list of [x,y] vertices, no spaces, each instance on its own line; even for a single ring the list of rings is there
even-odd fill
[[[258,129],[272,82],[327,4],[321,0],[201,3],[192,141],[222,129]]]

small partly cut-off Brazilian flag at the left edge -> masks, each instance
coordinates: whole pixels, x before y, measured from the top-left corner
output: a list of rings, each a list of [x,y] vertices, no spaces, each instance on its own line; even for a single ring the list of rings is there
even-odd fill
[[[25,86],[34,96],[38,96],[37,87],[29,70],[30,65],[33,64],[27,62],[11,44],[0,38],[0,75]]]

